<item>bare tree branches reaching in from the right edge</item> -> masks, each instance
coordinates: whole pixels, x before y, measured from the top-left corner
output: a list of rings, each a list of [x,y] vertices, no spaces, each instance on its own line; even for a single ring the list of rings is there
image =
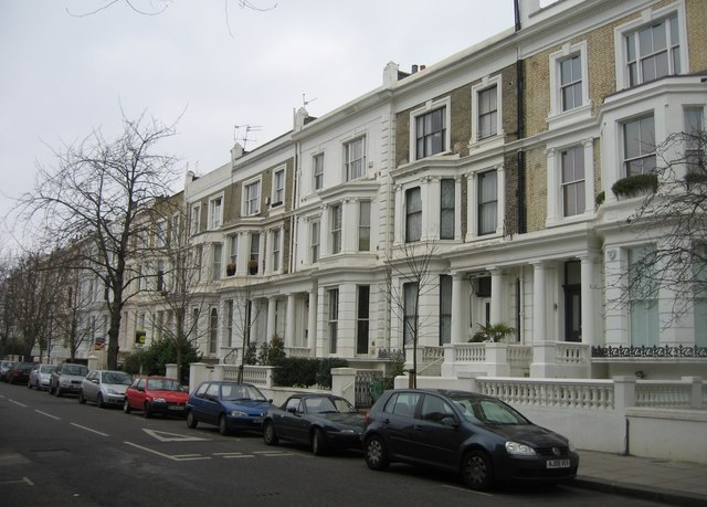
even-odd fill
[[[616,182],[616,194],[645,192],[626,220],[627,230],[645,240],[640,255],[614,273],[622,291],[610,303],[656,299],[672,293],[664,325],[679,319],[707,298],[707,133],[694,128],[671,135],[656,148],[656,168]]]

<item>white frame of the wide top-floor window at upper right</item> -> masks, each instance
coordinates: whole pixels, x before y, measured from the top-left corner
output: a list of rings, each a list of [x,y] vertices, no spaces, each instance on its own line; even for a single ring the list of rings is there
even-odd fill
[[[626,53],[626,36],[640,31],[641,29],[659,23],[672,15],[677,14],[677,29],[679,31],[679,64],[680,64],[680,73],[685,74],[689,71],[689,55],[688,55],[688,45],[687,45],[687,25],[685,21],[685,3],[680,0],[675,3],[671,3],[669,6],[651,10],[645,9],[641,11],[641,15],[621,27],[616,27],[614,29],[614,47],[616,51],[615,55],[615,72],[616,72],[616,89],[625,89],[630,88],[630,78],[629,78],[629,70],[627,70],[627,53]],[[669,36],[666,35],[669,41]],[[668,66],[669,72],[668,75],[674,74],[673,62],[668,57]],[[641,78],[641,74],[639,71],[639,83],[634,86],[640,86],[643,84]]]

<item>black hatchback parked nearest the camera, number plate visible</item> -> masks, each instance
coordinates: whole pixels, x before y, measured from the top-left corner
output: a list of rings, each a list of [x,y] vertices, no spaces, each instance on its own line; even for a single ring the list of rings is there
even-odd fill
[[[445,390],[390,390],[366,416],[368,466],[433,465],[473,489],[495,482],[570,479],[579,455],[562,435],[532,424],[497,398]]]

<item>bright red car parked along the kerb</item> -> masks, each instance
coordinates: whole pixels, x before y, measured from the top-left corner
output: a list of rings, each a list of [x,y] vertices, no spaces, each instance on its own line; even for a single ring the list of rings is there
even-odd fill
[[[141,410],[146,419],[152,414],[184,416],[189,393],[177,379],[140,377],[125,391],[123,412]]]

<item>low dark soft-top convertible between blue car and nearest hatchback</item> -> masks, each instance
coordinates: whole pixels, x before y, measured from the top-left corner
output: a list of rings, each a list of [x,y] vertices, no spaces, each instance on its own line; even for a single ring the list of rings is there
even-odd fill
[[[293,394],[263,421],[263,440],[312,446],[316,455],[334,447],[361,447],[363,415],[346,399],[333,394]]]

